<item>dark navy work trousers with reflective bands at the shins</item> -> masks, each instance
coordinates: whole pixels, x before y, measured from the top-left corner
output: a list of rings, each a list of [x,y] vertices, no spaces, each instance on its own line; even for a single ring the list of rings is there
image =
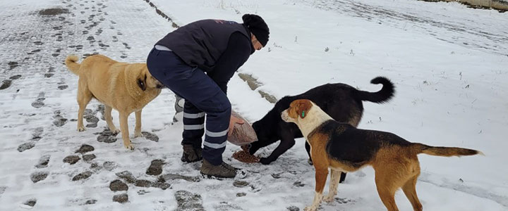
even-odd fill
[[[205,72],[187,65],[173,51],[152,49],[147,67],[159,82],[185,98],[182,144],[201,147],[205,134],[203,158],[212,165],[220,165],[231,117],[231,103],[226,94]]]

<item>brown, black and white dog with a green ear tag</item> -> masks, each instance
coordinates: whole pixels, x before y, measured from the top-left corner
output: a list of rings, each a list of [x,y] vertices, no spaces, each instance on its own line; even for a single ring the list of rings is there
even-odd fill
[[[416,196],[416,180],[420,175],[418,154],[437,156],[461,156],[482,154],[479,151],[435,147],[422,143],[411,143],[388,132],[356,129],[350,124],[337,122],[319,106],[309,100],[296,100],[282,112],[282,120],[298,125],[310,144],[310,155],[315,167],[315,197],[306,211],[314,211],[321,200],[331,202],[337,194],[340,172],[354,172],[365,165],[375,170],[377,193],[387,210],[399,210],[394,195],[402,188],[413,205],[413,210],[423,207]],[[322,199],[328,168],[330,186],[328,195]]]

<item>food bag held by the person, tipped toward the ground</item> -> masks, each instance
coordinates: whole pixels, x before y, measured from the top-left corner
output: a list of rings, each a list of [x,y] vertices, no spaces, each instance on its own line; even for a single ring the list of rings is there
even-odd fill
[[[228,136],[229,143],[233,143],[234,145],[243,146],[248,143],[252,143],[254,141],[258,141],[258,136],[256,136],[255,131],[250,123],[245,120],[241,115],[238,115],[236,112],[231,112],[231,115],[238,117],[243,120],[243,124],[234,124],[233,132]]]

